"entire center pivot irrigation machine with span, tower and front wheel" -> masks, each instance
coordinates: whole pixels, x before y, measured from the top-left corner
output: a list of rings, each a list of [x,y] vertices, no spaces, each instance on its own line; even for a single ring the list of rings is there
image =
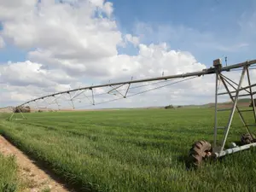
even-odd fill
[[[250,69],[255,69],[253,67],[256,67],[256,60],[252,61],[245,61],[241,62],[238,64],[230,65],[230,66],[222,66],[221,60],[217,59],[213,61],[213,67],[203,69],[202,71],[199,72],[194,72],[194,73],[183,73],[183,74],[177,74],[177,75],[172,75],[172,76],[162,76],[158,78],[153,78],[153,79],[138,79],[138,80],[132,80],[131,81],[124,81],[124,82],[119,82],[119,83],[109,83],[109,84],[99,84],[99,85],[92,85],[92,86],[87,86],[84,88],[79,88],[75,90],[67,90],[67,91],[62,91],[59,93],[51,94],[48,96],[41,96],[36,99],[33,99],[29,102],[22,103],[20,106],[15,107],[16,111],[18,110],[22,114],[22,108],[29,108],[32,104],[35,104],[38,106],[38,102],[40,101],[46,101],[51,99],[51,101],[46,101],[47,105],[56,105],[58,108],[60,107],[59,102],[61,102],[61,96],[66,96],[66,99],[68,100],[69,104],[71,105],[72,108],[75,108],[74,102],[76,99],[79,98],[79,96],[84,96],[90,101],[90,105],[96,105],[96,104],[101,104],[104,102],[113,102],[115,100],[119,100],[122,98],[130,97],[130,96],[136,96],[138,94],[147,92],[149,90],[156,90],[160,89],[162,87],[166,87],[168,85],[172,84],[177,84],[181,83],[185,80],[190,80],[194,79],[196,77],[201,77],[203,75],[207,74],[215,74],[216,75],[216,89],[215,89],[215,121],[214,121],[214,129],[213,129],[213,143],[208,143],[205,140],[198,141],[192,145],[192,148],[189,150],[189,162],[191,165],[194,166],[200,166],[201,162],[207,158],[219,158],[222,157],[226,154],[232,154],[236,153],[241,150],[245,150],[247,148],[251,147],[256,147],[256,139],[255,136],[253,135],[253,132],[251,131],[251,127],[256,126],[256,113],[255,113],[255,103],[253,96],[255,95],[256,91],[253,91],[253,87],[256,86],[256,84],[253,84],[250,79]],[[232,80],[228,78],[227,76],[224,75],[224,73],[231,72],[231,71],[239,71],[236,74],[236,80],[239,79],[239,81],[236,83],[236,80]],[[239,73],[241,72],[240,76]],[[245,75],[247,78],[245,78]],[[179,79],[177,81],[174,81],[174,79]],[[246,80],[245,80],[246,79]],[[156,81],[156,83],[154,82]],[[167,83],[170,82],[171,83]],[[148,84],[149,82],[154,82],[151,84]],[[242,86],[247,82],[246,86]],[[133,84],[138,84],[138,83],[143,83],[143,85],[140,86],[135,86],[132,87],[131,85]],[[164,85],[159,85],[158,87],[151,88],[149,90],[141,90],[144,86],[148,85],[155,85],[159,83],[165,83]],[[167,83],[167,84],[166,84]],[[218,92],[219,86],[222,84],[224,87],[223,90],[224,92]],[[126,87],[125,87],[126,86]],[[94,93],[94,90],[98,88],[107,88],[108,92],[105,93],[100,93],[96,94]],[[125,89],[124,89],[125,88]],[[140,88],[141,92],[137,92],[135,94],[129,95],[131,92],[131,89],[137,89]],[[123,89],[123,92],[120,90]],[[85,92],[90,91],[90,96],[86,96]],[[245,93],[245,94],[244,94]],[[121,96],[120,98],[115,98],[113,100],[109,101],[103,101],[103,102],[96,102],[95,101],[95,96],[102,96],[104,94],[110,95],[118,95]],[[218,96],[229,96],[230,100],[232,102],[231,108],[218,108]],[[251,107],[252,108],[247,108],[247,109],[241,109],[237,103],[238,103],[238,98],[241,96],[248,96],[252,102]],[[68,98],[67,98],[68,97]],[[29,107],[28,107],[29,106]],[[38,107],[39,108],[39,107]],[[224,126],[219,126],[218,125],[218,113],[222,111],[230,111],[230,116],[229,119],[227,120],[226,125]],[[230,132],[230,127],[232,120],[234,118],[234,114],[237,112],[239,114],[239,117],[241,119],[241,122],[243,124],[243,127],[247,131],[247,133],[241,135],[241,146],[236,146],[236,143],[231,143],[230,148],[226,148],[226,141],[229,136]],[[252,112],[253,113],[253,124],[248,124],[243,116],[243,113],[248,113]],[[9,119],[13,119],[14,113],[12,113],[11,117]],[[22,114],[22,117],[24,115]],[[244,129],[243,128],[243,129]],[[223,137],[222,139],[218,139],[219,136],[219,130],[223,131]]]

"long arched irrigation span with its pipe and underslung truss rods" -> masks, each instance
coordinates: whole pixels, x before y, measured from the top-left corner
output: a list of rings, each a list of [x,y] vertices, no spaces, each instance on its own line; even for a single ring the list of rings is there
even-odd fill
[[[256,60],[245,61],[235,65],[230,65],[226,67],[218,68],[218,73],[230,72],[241,70],[241,67],[254,67]],[[253,68],[252,68],[253,69]],[[113,102],[128,98],[131,96],[137,96],[148,91],[158,90],[163,87],[171,86],[173,84],[180,84],[184,81],[189,81],[197,77],[201,77],[208,74],[216,73],[216,67],[210,67],[203,69],[202,71],[193,73],[182,73],[169,76],[161,76],[150,79],[137,79],[129,80],[116,83],[108,84],[97,84],[86,87],[80,87],[73,90],[65,90],[57,92],[54,94],[49,94],[47,96],[40,96],[38,98],[32,99],[30,101],[21,103],[16,108],[22,108],[25,106],[30,106],[31,108],[57,108],[60,110],[65,106],[66,108],[86,108],[92,105],[99,105],[102,103]],[[230,85],[230,84],[229,84]],[[103,89],[105,91],[98,93],[96,89]],[[131,91],[133,90],[133,92]],[[107,99],[106,96],[112,95],[114,98]],[[102,98],[100,102],[96,102],[96,98]],[[86,101],[88,103],[86,106],[81,107],[81,102]],[[63,103],[66,103],[63,104]]]

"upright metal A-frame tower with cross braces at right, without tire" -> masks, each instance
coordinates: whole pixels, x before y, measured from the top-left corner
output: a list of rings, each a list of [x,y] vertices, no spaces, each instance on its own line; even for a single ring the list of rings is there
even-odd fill
[[[243,126],[246,128],[247,133],[250,134],[250,136],[253,138],[252,131],[250,130],[249,127],[256,126],[256,111],[255,111],[255,103],[253,99],[253,95],[256,94],[256,91],[253,92],[252,90],[252,88],[255,87],[256,84],[251,84],[250,73],[249,73],[250,65],[247,65],[246,63],[244,63],[244,65],[241,66],[241,75],[240,75],[238,84],[236,84],[235,81],[224,76],[224,74],[222,73],[221,67],[222,67],[221,62],[216,60],[215,61],[216,84],[215,84],[215,119],[214,119],[213,153],[217,157],[221,157],[226,154],[236,153],[238,151],[241,151],[247,148],[256,147],[256,143],[250,143],[247,145],[243,145],[241,147],[237,147],[235,143],[232,143],[233,148],[228,148],[224,150],[235,112],[239,114],[241,122]],[[246,87],[242,87],[241,84],[244,81],[244,76],[246,73],[247,73],[248,85]],[[225,92],[218,93],[219,81],[224,85]],[[228,85],[230,85],[230,87],[232,87],[234,90],[231,91]],[[242,90],[246,91],[247,94],[241,95],[240,92]],[[226,94],[230,96],[230,100],[232,102],[232,108],[218,109],[218,96],[226,95]],[[237,102],[239,97],[241,96],[250,96],[251,102],[253,103],[253,109],[242,110],[241,108],[239,108],[239,106],[237,105]],[[218,112],[223,112],[223,111],[230,111],[230,116],[225,126],[218,126]],[[247,124],[243,116],[244,112],[253,112],[254,124]],[[218,130],[219,129],[224,129],[224,137],[222,139],[222,142],[220,143],[220,146],[218,146]]]

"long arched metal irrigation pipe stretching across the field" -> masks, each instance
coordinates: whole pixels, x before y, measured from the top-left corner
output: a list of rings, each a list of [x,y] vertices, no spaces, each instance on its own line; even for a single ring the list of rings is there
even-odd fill
[[[227,67],[222,67],[220,68],[221,72],[230,72],[230,70],[234,70],[240,67],[250,67],[253,64],[256,63],[256,60],[251,60],[251,61],[245,61],[245,62],[241,62],[241,63],[237,63],[234,65],[230,65]],[[210,67],[207,69],[203,69],[202,71],[198,71],[198,72],[193,72],[193,73],[183,73],[183,74],[177,74],[177,75],[170,75],[170,76],[162,76],[162,77],[157,77],[157,78],[151,78],[151,79],[138,79],[138,80],[131,80],[131,81],[124,81],[124,82],[117,82],[117,83],[111,83],[111,84],[98,84],[98,85],[92,85],[92,86],[87,86],[87,87],[83,87],[83,88],[79,88],[79,89],[74,89],[74,90],[66,90],[66,91],[61,91],[55,94],[51,94],[48,96],[41,96],[38,97],[36,99],[30,100],[28,102],[24,102],[22,104],[20,104],[18,107],[26,105],[30,102],[36,102],[38,100],[44,99],[46,97],[50,97],[50,96],[58,96],[61,94],[69,94],[70,92],[74,92],[74,91],[78,91],[78,90],[92,90],[95,88],[102,88],[102,87],[109,87],[109,86],[115,86],[115,85],[125,85],[125,84],[137,84],[137,83],[143,83],[143,82],[151,82],[151,81],[157,81],[157,80],[167,80],[167,79],[183,79],[183,78],[188,78],[188,77],[200,77],[202,75],[207,75],[207,74],[212,74],[212,73],[216,73],[216,68],[215,67]],[[117,89],[117,88],[115,88]]]

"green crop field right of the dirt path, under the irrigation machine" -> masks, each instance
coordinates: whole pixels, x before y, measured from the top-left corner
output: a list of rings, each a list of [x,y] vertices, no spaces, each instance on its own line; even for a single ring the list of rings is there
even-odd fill
[[[1,134],[79,191],[256,191],[255,148],[187,170],[200,139],[212,142],[211,108],[26,113]],[[220,125],[228,113],[220,115]],[[253,123],[253,115],[246,116]],[[228,143],[245,129],[237,114]],[[255,128],[254,128],[255,133]]]

